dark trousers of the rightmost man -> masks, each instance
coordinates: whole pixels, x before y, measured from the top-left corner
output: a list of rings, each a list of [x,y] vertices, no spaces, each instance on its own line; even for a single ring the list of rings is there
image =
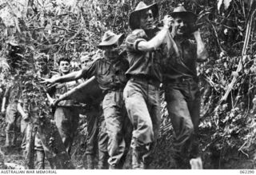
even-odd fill
[[[174,152],[178,157],[198,157],[200,91],[193,79],[165,86],[168,113],[174,127]]]

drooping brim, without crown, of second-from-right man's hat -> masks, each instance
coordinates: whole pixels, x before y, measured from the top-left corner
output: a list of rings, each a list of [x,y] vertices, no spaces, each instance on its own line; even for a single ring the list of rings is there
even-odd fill
[[[143,9],[140,10],[134,10],[133,12],[130,13],[130,18],[129,18],[129,26],[131,30],[135,30],[139,28],[139,14],[142,10],[152,10],[153,17],[156,18],[158,16],[158,4],[154,3],[150,6],[146,6]]]

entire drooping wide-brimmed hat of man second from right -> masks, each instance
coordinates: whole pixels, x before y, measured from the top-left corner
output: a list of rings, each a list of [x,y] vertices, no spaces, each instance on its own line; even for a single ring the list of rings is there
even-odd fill
[[[156,18],[158,16],[158,4],[154,3],[150,6],[147,6],[144,2],[139,2],[136,6],[135,10],[130,13],[129,17],[129,26],[131,30],[135,30],[139,28],[139,15],[142,10],[152,10],[153,17]]]

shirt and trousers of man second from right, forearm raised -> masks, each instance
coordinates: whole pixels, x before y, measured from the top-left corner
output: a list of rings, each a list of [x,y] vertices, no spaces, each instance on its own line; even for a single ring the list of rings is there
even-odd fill
[[[159,85],[162,81],[160,59],[163,51],[161,47],[153,51],[138,50],[139,42],[150,39],[142,29],[133,30],[126,38],[130,68],[126,71],[129,81],[124,89],[124,98],[134,126],[131,144],[134,169],[146,168],[152,161],[161,121]]]

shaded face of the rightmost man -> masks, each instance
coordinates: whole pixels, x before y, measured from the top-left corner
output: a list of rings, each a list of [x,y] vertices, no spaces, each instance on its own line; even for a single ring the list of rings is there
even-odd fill
[[[174,35],[183,36],[188,31],[188,23],[185,18],[175,17],[172,23],[172,32]]]

